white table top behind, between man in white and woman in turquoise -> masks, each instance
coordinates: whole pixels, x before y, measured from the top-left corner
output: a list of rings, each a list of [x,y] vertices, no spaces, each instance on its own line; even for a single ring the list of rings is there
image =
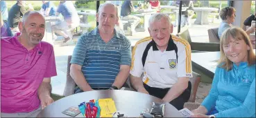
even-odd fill
[[[253,50],[255,53],[255,50]],[[207,74],[210,74],[210,77],[214,76],[217,61],[221,57],[221,52],[196,52],[191,53],[192,64],[198,68],[203,68],[207,71]]]

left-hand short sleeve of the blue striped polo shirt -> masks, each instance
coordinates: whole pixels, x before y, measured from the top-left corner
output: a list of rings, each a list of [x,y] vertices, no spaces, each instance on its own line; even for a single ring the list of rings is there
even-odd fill
[[[80,66],[83,66],[87,52],[85,39],[87,39],[85,35],[79,37],[78,42],[76,43],[76,46],[74,48],[70,63],[76,63]]]

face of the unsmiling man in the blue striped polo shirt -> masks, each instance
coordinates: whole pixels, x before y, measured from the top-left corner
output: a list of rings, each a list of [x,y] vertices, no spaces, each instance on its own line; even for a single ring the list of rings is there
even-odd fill
[[[99,22],[99,29],[103,32],[112,32],[118,23],[117,9],[113,5],[106,5],[101,8],[96,19]]]

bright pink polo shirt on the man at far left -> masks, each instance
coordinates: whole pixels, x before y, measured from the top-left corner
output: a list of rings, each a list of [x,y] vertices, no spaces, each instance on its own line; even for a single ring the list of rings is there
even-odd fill
[[[57,75],[53,46],[42,41],[32,50],[17,36],[1,39],[1,112],[31,112],[40,106],[37,89]]]

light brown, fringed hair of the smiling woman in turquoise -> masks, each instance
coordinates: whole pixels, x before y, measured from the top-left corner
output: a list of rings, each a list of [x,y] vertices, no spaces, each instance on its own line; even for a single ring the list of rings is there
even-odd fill
[[[250,47],[250,50],[248,50],[248,66],[251,66],[255,64],[255,53],[253,52],[253,46],[250,43],[250,39],[246,32],[238,27],[232,27],[228,28],[223,32],[223,35],[221,35],[221,41],[220,41],[220,48],[221,48],[221,58],[219,59],[218,65],[221,66],[221,68],[225,68],[226,70],[232,69],[232,61],[228,59],[228,57],[225,56],[223,45],[224,43],[228,43],[230,41],[230,37],[233,39],[239,39],[244,40],[246,42],[246,45]]]

